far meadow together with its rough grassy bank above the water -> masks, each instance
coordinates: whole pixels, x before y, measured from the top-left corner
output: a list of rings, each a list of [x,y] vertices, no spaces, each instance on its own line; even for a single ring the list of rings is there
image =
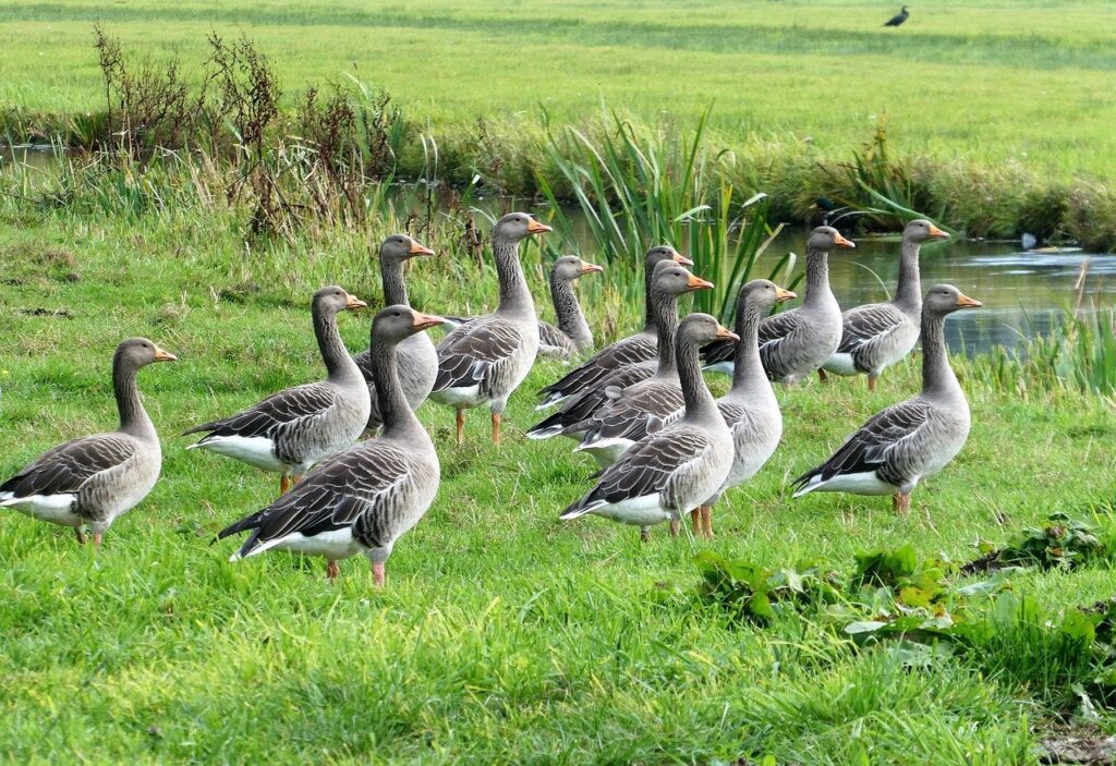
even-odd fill
[[[878,206],[867,186],[974,236],[1116,248],[1116,99],[1106,95],[1116,59],[1101,31],[1116,18],[1110,6],[953,2],[917,9],[901,30],[879,29],[881,12],[836,0],[685,12],[619,0],[576,12],[542,0],[514,12],[448,0],[297,10],[17,2],[0,11],[13,32],[0,62],[0,127],[12,140],[78,144],[118,127],[107,119],[95,23],[134,67],[177,57],[187,87],[211,68],[206,36],[246,35],[280,86],[275,135],[307,129],[307,88],[347,87],[354,76],[402,107],[393,169],[410,178],[430,177],[436,156],[437,177],[458,187],[479,174],[535,196],[540,176],[560,177],[548,147],[567,126],[614,132],[607,111],[623,105],[620,119],[671,136],[713,104],[709,143],[733,159],[723,172],[742,198],[770,194],[778,220],[819,216],[818,197]],[[873,133],[885,114],[881,161]],[[875,167],[849,177],[865,145]]]

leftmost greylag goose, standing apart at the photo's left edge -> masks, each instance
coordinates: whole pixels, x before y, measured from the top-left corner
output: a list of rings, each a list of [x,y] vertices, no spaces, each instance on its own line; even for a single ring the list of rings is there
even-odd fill
[[[83,527],[93,542],[121,514],[147,496],[163,464],[158,434],[147,417],[136,371],[175,356],[146,338],[129,338],[113,355],[113,392],[121,426],[110,434],[84,436],[46,452],[39,459],[0,484],[0,507],[10,507],[40,521],[73,526],[79,543]]]

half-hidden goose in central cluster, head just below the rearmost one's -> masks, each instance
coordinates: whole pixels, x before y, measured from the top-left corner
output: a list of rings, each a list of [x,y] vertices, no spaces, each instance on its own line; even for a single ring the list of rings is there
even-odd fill
[[[617,398],[620,391],[647,380],[660,368],[662,368],[665,379],[676,379],[674,333],[679,326],[679,297],[694,290],[705,290],[712,287],[712,282],[693,275],[674,261],[660,261],[652,275],[652,289],[648,298],[648,306],[655,317],[657,360],[652,358],[613,370],[576,398],[564,403],[557,413],[531,427],[527,432],[528,438],[546,439],[561,435],[581,440],[586,436],[586,429],[594,426],[590,421],[593,415],[612,399]],[[681,401],[677,406],[681,407]],[[607,465],[623,452],[624,447],[606,446],[603,447],[603,450],[597,450],[594,457],[603,465]]]

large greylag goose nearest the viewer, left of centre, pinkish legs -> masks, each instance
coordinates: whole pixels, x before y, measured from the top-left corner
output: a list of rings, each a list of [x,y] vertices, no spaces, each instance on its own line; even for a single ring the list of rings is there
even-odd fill
[[[376,314],[372,367],[384,416],[381,435],[326,460],[268,507],[221,530],[219,537],[251,530],[231,561],[271,549],[325,556],[333,582],[339,560],[363,553],[376,585],[384,584],[392,546],[426,513],[441,478],[434,443],[403,391],[396,351],[442,321],[406,306]]]

